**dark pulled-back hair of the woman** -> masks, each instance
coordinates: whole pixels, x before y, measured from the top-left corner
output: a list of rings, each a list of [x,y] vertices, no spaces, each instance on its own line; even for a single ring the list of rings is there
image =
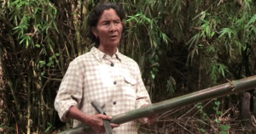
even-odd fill
[[[100,44],[100,41],[91,31],[92,27],[96,28],[96,25],[98,24],[99,19],[101,18],[104,10],[108,10],[110,8],[113,8],[115,10],[116,14],[119,16],[120,20],[124,20],[125,14],[123,11],[123,8],[119,5],[119,3],[99,3],[96,5],[95,8],[92,9],[90,12],[89,18],[88,18],[88,36],[90,37],[90,40],[92,42],[95,42],[95,47],[98,47]],[[124,31],[124,28],[123,28]]]

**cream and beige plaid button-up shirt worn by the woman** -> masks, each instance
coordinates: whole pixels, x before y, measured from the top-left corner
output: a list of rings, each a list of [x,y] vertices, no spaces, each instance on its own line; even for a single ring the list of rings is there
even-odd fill
[[[66,121],[71,106],[85,114],[97,114],[90,105],[92,101],[99,103],[105,113],[112,116],[151,103],[137,63],[118,50],[110,57],[96,47],[69,64],[55,98],[55,109],[61,120]],[[73,121],[74,127],[79,125],[79,120]],[[114,128],[113,132],[137,133],[136,120]]]

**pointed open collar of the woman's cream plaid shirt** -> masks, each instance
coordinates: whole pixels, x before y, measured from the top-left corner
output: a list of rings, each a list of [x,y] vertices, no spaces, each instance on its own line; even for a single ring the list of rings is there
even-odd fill
[[[102,62],[102,59],[107,56],[106,53],[103,53],[102,51],[100,51],[96,47],[92,47],[90,49],[90,53],[92,53],[96,57],[96,59],[98,61],[100,61],[100,62]],[[119,49],[118,48],[116,50],[116,53],[113,54],[113,58],[119,59],[119,61],[121,61],[121,53],[119,53]]]

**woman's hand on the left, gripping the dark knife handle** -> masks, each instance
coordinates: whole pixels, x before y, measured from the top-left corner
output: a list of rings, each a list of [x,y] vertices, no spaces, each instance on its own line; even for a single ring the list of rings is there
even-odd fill
[[[91,115],[89,119],[85,120],[85,124],[90,126],[96,132],[105,132],[103,120],[111,120],[112,117],[105,114]],[[112,127],[119,127],[117,124],[110,123]]]

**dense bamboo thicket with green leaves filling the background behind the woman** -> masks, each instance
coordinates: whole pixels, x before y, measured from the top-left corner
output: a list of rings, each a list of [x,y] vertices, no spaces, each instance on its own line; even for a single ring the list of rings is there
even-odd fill
[[[103,1],[101,1],[103,2]],[[121,53],[135,59],[153,103],[256,74],[255,0],[116,0]],[[0,0],[0,133],[70,128],[54,109],[70,61],[93,45],[99,0]],[[253,133],[252,89],[161,114],[141,133]]]

